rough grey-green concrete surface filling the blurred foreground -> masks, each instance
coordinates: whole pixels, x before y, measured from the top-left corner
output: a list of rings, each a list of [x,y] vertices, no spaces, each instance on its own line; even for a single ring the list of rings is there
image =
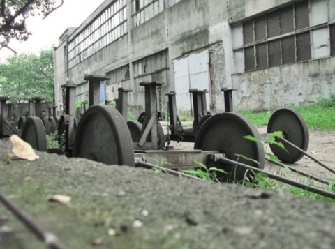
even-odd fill
[[[329,144],[328,144],[329,145]],[[335,206],[38,152],[3,158],[0,192],[66,248],[334,248]],[[52,195],[71,197],[68,204]],[[0,204],[0,248],[46,248]]]

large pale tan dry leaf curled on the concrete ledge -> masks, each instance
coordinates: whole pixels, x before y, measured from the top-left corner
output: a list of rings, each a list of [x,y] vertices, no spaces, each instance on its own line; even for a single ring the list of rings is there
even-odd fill
[[[34,161],[40,158],[38,155],[36,155],[31,145],[28,144],[27,142],[24,142],[19,136],[11,135],[10,142],[14,144],[12,152],[18,158],[26,159],[29,161]]]

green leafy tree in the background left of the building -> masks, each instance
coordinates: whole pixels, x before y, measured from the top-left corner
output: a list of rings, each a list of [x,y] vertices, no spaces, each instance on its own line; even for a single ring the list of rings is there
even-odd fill
[[[0,95],[13,103],[40,97],[47,103],[54,98],[53,50],[40,54],[14,54],[0,64]]]

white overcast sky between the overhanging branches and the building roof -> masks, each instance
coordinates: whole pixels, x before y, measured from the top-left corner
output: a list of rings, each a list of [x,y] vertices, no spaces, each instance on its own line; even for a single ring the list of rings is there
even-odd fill
[[[58,45],[59,36],[68,27],[79,27],[91,13],[105,0],[64,0],[63,6],[54,10],[44,20],[42,16],[29,17],[26,20],[27,29],[32,33],[29,39],[19,43],[10,40],[9,47],[17,53],[38,53]],[[3,48],[0,50],[0,61],[13,55],[13,52]]]

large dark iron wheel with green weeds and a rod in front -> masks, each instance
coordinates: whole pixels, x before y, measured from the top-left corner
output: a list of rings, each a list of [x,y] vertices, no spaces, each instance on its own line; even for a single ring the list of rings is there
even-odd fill
[[[219,151],[230,160],[262,169],[265,163],[264,146],[259,142],[244,138],[246,135],[261,139],[258,130],[244,116],[232,112],[215,114],[201,126],[195,137],[194,149]],[[258,163],[244,159],[242,156],[251,158]],[[218,165],[207,165],[207,167],[218,167],[228,173],[217,172],[221,182],[241,182],[245,176],[248,177],[249,181],[253,181],[253,173],[250,170],[246,171],[236,165],[219,163]]]

